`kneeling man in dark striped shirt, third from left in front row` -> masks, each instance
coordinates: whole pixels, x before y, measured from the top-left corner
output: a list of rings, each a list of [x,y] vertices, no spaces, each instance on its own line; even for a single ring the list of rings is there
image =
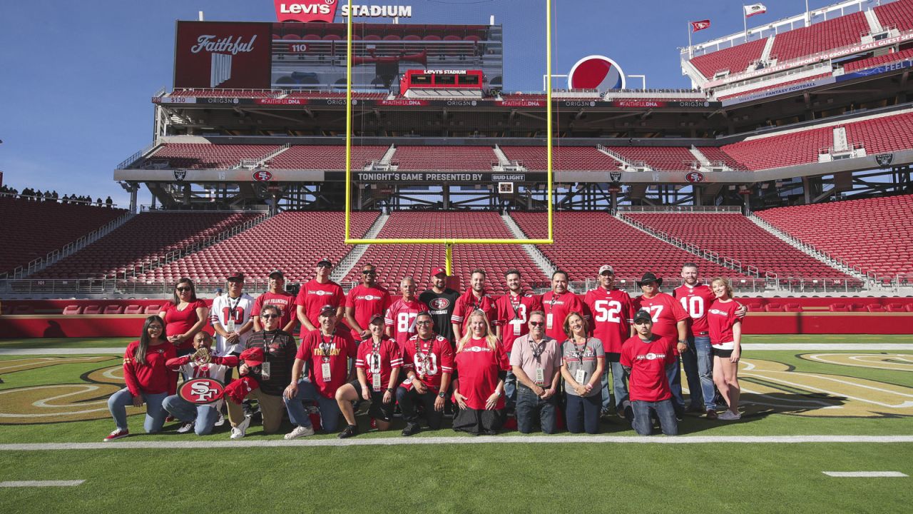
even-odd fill
[[[291,369],[298,349],[295,346],[295,337],[280,329],[279,316],[281,313],[277,306],[263,305],[260,309],[260,324],[263,330],[251,334],[244,348],[262,349],[263,364],[252,368],[247,364],[238,367],[240,375],[257,380],[259,387],[250,391],[248,398],[253,397],[260,404],[264,434],[276,434],[279,424],[282,423],[282,411],[285,407],[282,392],[291,381]],[[226,405],[228,420],[232,425],[231,438],[240,439],[247,434],[250,417],[244,414],[239,403],[226,402]]]

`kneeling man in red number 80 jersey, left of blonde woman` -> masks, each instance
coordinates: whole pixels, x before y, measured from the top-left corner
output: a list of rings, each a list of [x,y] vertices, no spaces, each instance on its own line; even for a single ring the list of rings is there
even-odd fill
[[[396,389],[396,401],[403,410],[405,428],[403,435],[418,433],[418,414],[415,403],[425,406],[428,428],[441,427],[446,403],[446,391],[454,370],[454,350],[445,337],[435,334],[430,313],[423,312],[415,318],[418,333],[410,337],[403,347],[403,371],[406,380]]]

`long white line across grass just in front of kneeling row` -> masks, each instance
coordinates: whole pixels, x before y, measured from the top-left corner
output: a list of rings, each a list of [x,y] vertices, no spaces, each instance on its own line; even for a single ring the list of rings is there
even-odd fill
[[[803,443],[913,443],[913,435],[480,435],[478,437],[380,437],[371,439],[241,439],[236,441],[124,441],[110,443],[0,444],[0,452],[60,450],[187,450],[217,448],[270,448],[289,446],[403,446],[415,444],[803,444]]]

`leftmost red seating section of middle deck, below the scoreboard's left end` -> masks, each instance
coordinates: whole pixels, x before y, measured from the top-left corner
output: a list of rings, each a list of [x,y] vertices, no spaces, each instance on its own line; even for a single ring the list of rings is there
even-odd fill
[[[213,145],[208,143],[166,143],[148,156],[143,166],[168,163],[187,169],[225,169],[239,166],[241,159],[259,160],[278,150],[279,145]]]

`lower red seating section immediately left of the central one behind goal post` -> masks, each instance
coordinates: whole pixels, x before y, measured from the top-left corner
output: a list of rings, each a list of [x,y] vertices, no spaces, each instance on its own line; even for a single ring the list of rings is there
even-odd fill
[[[363,236],[377,216],[377,212],[353,212],[352,235]],[[342,244],[344,220],[342,212],[282,212],[138,280],[173,282],[189,276],[199,282],[221,283],[228,273],[241,272],[250,280],[265,281],[269,273],[280,269],[288,282],[305,282],[313,278],[320,259],[327,258],[335,264],[352,250],[352,246]]]

